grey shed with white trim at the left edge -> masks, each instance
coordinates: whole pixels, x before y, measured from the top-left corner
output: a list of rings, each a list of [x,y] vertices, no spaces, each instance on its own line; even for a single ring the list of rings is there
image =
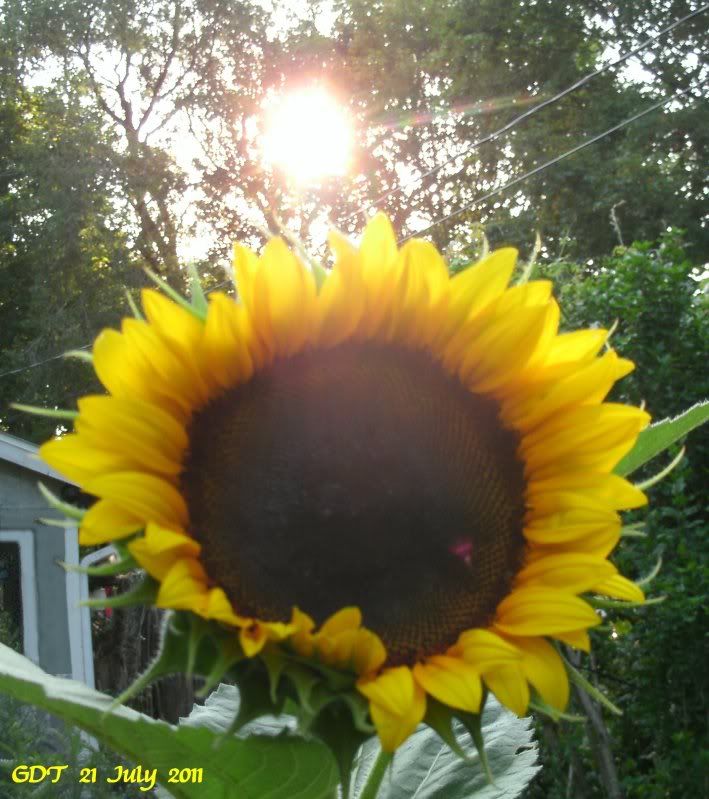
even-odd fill
[[[78,531],[40,521],[60,518],[40,481],[62,499],[78,495],[38,458],[37,447],[0,433],[0,636],[12,629],[24,654],[45,671],[85,682],[92,654],[79,608],[82,578],[60,565],[78,565]]]

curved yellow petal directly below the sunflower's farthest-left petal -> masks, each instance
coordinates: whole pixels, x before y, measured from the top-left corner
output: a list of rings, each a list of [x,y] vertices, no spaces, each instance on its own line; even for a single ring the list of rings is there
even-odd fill
[[[187,505],[165,480],[144,472],[115,472],[87,481],[86,491],[110,499],[129,513],[163,527],[187,526]]]

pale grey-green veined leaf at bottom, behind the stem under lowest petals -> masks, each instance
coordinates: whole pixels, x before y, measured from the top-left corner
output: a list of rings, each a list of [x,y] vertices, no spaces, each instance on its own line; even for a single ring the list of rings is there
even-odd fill
[[[531,719],[517,718],[492,697],[482,715],[482,734],[494,783],[485,776],[463,725],[455,721],[453,731],[466,760],[451,751],[432,729],[421,726],[394,755],[379,799],[514,799],[539,771]],[[377,751],[376,741],[362,747],[353,774],[355,797],[361,795]]]

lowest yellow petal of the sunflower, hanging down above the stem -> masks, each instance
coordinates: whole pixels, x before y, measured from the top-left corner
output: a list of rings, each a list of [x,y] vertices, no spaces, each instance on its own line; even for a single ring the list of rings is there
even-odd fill
[[[397,749],[426,714],[426,694],[406,666],[359,680],[357,688],[369,699],[369,712],[385,752]]]

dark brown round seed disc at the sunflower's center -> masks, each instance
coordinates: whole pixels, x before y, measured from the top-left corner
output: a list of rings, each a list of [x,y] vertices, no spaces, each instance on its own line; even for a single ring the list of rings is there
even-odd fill
[[[244,615],[357,605],[390,665],[488,624],[524,551],[518,438],[430,355],[348,343],[277,361],[193,418],[191,533]]]

